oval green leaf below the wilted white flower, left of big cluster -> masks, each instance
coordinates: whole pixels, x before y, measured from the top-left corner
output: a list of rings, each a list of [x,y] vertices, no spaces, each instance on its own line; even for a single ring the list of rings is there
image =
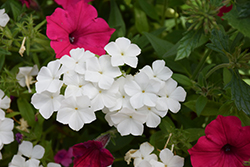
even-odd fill
[[[17,99],[17,106],[22,117],[28,122],[29,126],[35,125],[35,111],[31,104],[24,98]]]

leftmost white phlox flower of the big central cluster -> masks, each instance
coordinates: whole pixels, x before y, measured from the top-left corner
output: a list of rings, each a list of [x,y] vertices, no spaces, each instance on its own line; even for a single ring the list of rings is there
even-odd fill
[[[31,104],[36,109],[39,109],[40,114],[49,119],[54,111],[57,111],[61,106],[61,101],[64,99],[63,95],[59,95],[59,91],[51,93],[44,91],[42,93],[35,93],[31,97]]]

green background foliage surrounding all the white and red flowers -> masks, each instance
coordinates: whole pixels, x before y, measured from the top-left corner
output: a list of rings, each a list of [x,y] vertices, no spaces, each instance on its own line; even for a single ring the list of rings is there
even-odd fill
[[[114,167],[128,166],[123,160],[129,149],[139,148],[149,141],[163,149],[174,144],[174,153],[185,158],[185,167],[191,163],[187,150],[192,147],[205,126],[217,115],[235,115],[242,125],[250,125],[250,3],[247,0],[94,0],[91,4],[99,17],[104,18],[116,31],[111,37],[125,36],[136,43],[142,53],[138,68],[151,65],[156,59],[165,60],[174,72],[172,78],[187,91],[187,98],[177,114],[169,112],[156,129],[145,127],[140,137],[114,133],[97,112],[97,120],[73,132],[55,120],[55,114],[44,120],[30,104],[32,94],[20,87],[15,79],[18,67],[39,68],[55,59],[55,53],[46,37],[46,16],[59,7],[53,0],[37,0],[27,8],[19,0],[1,0],[11,20],[0,30],[0,89],[14,97],[8,117],[28,121],[30,132],[15,129],[24,139],[45,147],[43,164],[53,161],[60,149],[98,137],[110,131],[107,148],[114,155]],[[223,6],[232,10],[219,17]],[[23,57],[18,53],[26,37]],[[131,69],[132,73],[137,70]],[[34,86],[32,87],[35,92]],[[37,120],[35,121],[36,118]],[[18,124],[18,121],[16,122]],[[3,148],[0,166],[7,166],[17,142]],[[130,164],[129,166],[133,166]]]

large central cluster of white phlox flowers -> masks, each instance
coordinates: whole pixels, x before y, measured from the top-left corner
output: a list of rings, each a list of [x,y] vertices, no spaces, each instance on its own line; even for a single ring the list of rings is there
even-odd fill
[[[168,110],[180,110],[186,92],[171,79],[172,71],[163,60],[153,62],[152,68],[145,66],[135,76],[126,75],[119,66],[135,68],[140,48],[122,37],[104,49],[109,55],[100,57],[83,48],[72,49],[70,56],[41,68],[31,103],[44,118],[58,111],[57,121],[78,131],[96,119],[96,111],[103,110],[109,125],[121,135],[142,135],[144,123],[157,127]]]

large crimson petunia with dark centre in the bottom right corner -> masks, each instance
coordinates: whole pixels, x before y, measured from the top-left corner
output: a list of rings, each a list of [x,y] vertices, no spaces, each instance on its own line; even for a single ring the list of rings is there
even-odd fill
[[[239,118],[219,115],[205,134],[188,150],[193,167],[240,167],[250,159],[250,126]]]

